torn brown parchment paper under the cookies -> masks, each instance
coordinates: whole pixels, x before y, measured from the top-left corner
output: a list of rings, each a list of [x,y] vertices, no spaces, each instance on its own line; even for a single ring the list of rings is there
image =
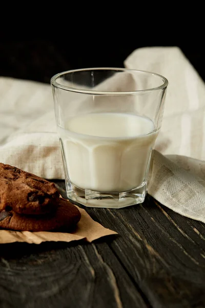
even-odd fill
[[[77,240],[86,240],[92,242],[96,239],[107,235],[117,234],[115,231],[110,230],[94,221],[85,209],[77,206],[81,213],[81,219],[77,224],[77,228],[73,233],[60,233],[60,232],[15,232],[9,230],[0,230],[0,244],[25,242],[29,244],[40,244],[42,242],[71,242]]]

